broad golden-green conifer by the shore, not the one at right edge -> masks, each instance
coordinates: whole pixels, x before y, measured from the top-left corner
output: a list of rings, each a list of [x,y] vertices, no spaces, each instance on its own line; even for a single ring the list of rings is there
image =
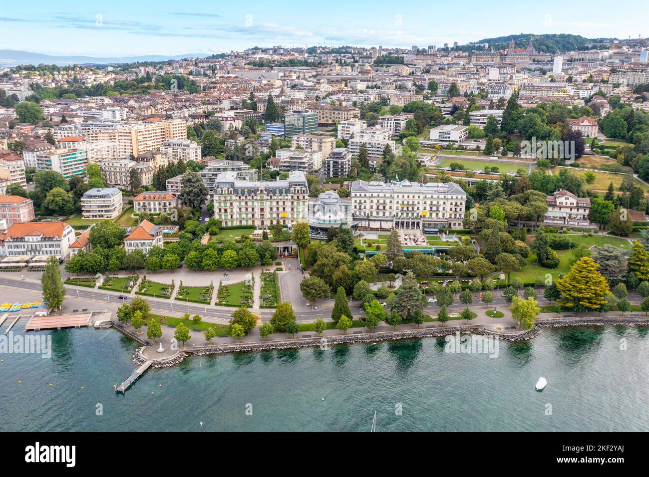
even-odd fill
[[[600,310],[611,292],[599,267],[590,257],[580,258],[572,265],[568,274],[556,281],[562,295],[559,304],[575,312]]]

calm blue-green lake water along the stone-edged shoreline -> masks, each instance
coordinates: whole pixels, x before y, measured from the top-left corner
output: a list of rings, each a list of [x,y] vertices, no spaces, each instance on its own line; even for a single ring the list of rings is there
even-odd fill
[[[0,354],[2,431],[367,432],[374,411],[382,432],[649,430],[648,327],[546,329],[500,341],[495,359],[432,338],[197,356],[150,369],[125,395],[113,385],[134,371],[135,343],[49,333],[49,359]]]

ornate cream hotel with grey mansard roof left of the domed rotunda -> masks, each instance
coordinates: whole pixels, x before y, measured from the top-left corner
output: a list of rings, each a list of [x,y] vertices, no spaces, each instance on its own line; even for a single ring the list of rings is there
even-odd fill
[[[279,221],[293,225],[308,219],[309,187],[302,171],[287,180],[251,182],[224,172],[214,188],[214,217],[223,226],[252,225],[268,228]]]

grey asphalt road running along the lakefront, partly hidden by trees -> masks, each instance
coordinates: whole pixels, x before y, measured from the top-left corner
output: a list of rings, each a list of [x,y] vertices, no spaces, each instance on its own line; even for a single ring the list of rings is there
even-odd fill
[[[12,276],[6,276],[6,275],[0,275],[0,287],[2,288],[8,288],[12,289],[14,291],[25,291],[29,292],[29,295],[33,295],[35,292],[40,294],[40,283],[37,282],[36,280],[21,280],[16,276],[16,278],[13,278]],[[139,295],[129,295],[125,293],[121,293],[118,291],[106,291],[106,290],[100,290],[100,289],[94,289],[94,288],[87,288],[87,287],[79,287],[79,286],[71,286],[71,285],[66,285],[66,290],[67,290],[67,295],[66,297],[69,299],[75,299],[75,302],[94,302],[94,303],[100,303],[104,305],[110,305],[110,306],[119,306],[122,303],[130,303],[136,296]],[[299,288],[297,289],[297,293],[299,293],[301,297],[301,293],[299,291]],[[539,302],[539,305],[547,305],[550,304],[548,300],[543,298],[543,289],[537,289],[538,297],[537,301]],[[470,308],[477,307],[477,306],[485,306],[484,303],[480,302],[478,299],[480,292],[474,292],[474,302],[469,305]],[[521,293],[522,294],[522,293]],[[458,298],[458,293],[455,294],[455,302],[452,304],[452,306],[448,307],[449,312],[459,312],[465,308],[464,304],[461,304],[459,302]],[[505,300],[502,298],[502,290],[493,290],[493,295],[494,295],[494,301],[491,303],[489,306],[503,306],[506,304]],[[119,296],[125,296],[125,300],[121,300],[118,297]],[[153,298],[153,297],[143,297],[149,302],[149,305],[151,306],[151,312],[156,313],[156,314],[163,314],[163,315],[183,315],[184,313],[190,313],[190,315],[201,315],[202,319],[204,321],[208,321],[210,323],[220,323],[220,324],[227,324],[228,321],[230,320],[230,317],[232,316],[232,312],[236,310],[236,308],[228,308],[224,306],[210,306],[210,305],[201,305],[197,303],[191,303],[191,302],[182,302],[180,300],[167,300],[167,299],[158,299],[158,298]],[[641,297],[637,295],[637,293],[629,293],[628,299],[630,300],[631,303],[639,302],[641,301]],[[26,299],[25,299],[26,300]],[[333,308],[334,302],[333,300],[317,300],[317,303],[315,304],[315,308],[312,310],[304,310],[301,312],[295,312],[295,317],[297,318],[298,322],[311,322],[315,321],[317,318],[322,318],[325,321],[330,320],[331,317],[331,310]],[[64,302],[65,306],[65,302]],[[74,305],[78,306],[78,305]],[[70,308],[69,306],[67,308]],[[90,307],[88,307],[90,309]],[[358,317],[363,315],[364,313],[361,312],[359,308],[359,303],[350,301],[349,302],[349,308],[350,311],[352,312],[353,317]],[[71,312],[72,309],[66,310]],[[426,314],[433,314],[435,315],[439,311],[439,306],[435,304],[428,304],[426,308],[424,308],[424,313]],[[275,310],[273,309],[251,309],[251,312],[257,313],[261,316],[262,321],[269,321],[271,319],[271,316],[273,316],[273,312]]]

